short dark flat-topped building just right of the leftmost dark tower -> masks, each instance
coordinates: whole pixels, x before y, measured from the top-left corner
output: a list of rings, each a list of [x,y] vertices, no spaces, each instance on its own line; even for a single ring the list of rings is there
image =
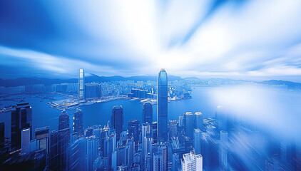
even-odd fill
[[[36,140],[39,140],[39,149],[44,149],[49,152],[49,126],[36,128]]]

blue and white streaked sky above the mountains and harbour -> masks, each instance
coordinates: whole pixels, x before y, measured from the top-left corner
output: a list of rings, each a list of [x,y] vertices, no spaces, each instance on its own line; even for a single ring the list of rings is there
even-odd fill
[[[0,1],[0,78],[301,82],[301,1]]]

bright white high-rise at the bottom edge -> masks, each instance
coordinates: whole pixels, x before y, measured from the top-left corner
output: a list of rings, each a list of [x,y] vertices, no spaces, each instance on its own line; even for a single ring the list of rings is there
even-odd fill
[[[183,171],[202,171],[203,170],[203,157],[202,155],[195,155],[195,152],[183,154],[181,160]]]

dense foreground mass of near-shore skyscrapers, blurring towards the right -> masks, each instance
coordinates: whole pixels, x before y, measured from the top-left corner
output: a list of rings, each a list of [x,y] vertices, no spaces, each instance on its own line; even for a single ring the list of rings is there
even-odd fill
[[[81,75],[79,95],[85,94]],[[82,89],[81,89],[82,88]],[[157,120],[153,105],[144,103],[142,120],[129,120],[124,126],[123,107],[113,106],[106,125],[83,127],[83,112],[74,112],[70,124],[66,110],[58,118],[57,130],[49,126],[32,129],[32,108],[21,100],[11,110],[11,142],[4,142],[0,123],[0,167],[4,170],[298,170],[301,152],[285,142],[281,151],[272,151],[260,162],[260,148],[235,140],[256,128],[242,126],[239,120],[218,107],[215,118],[200,112],[186,112],[178,120],[168,120],[168,76],[158,74]],[[70,127],[70,125],[73,125]],[[73,130],[71,130],[73,129]],[[33,138],[35,135],[35,138]],[[238,147],[233,143],[238,142]],[[241,145],[241,147],[240,147]],[[275,145],[277,146],[277,145]],[[259,147],[259,146],[258,146]],[[273,146],[272,146],[273,147]],[[295,147],[295,148],[294,148]],[[233,149],[248,150],[248,161]],[[256,153],[257,152],[257,153]],[[254,154],[255,155],[254,155]]]

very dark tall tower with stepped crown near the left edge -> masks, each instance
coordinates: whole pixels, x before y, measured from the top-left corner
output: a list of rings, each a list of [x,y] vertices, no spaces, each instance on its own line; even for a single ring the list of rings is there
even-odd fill
[[[11,110],[11,148],[21,148],[21,130],[30,128],[30,140],[32,139],[32,109],[28,102],[21,100],[16,103],[16,108]]]

